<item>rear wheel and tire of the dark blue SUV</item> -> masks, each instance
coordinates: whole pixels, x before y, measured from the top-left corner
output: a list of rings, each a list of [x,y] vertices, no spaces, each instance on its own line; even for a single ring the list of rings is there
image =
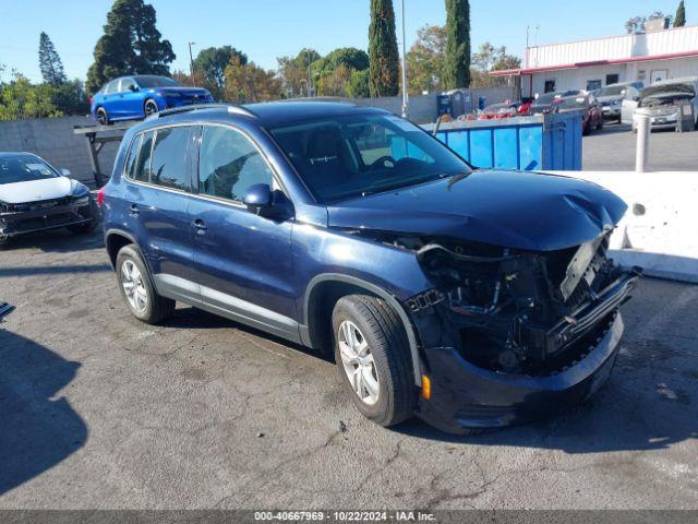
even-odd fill
[[[157,294],[141,253],[133,245],[121,248],[116,270],[121,296],[136,319],[156,324],[172,314],[174,300]]]

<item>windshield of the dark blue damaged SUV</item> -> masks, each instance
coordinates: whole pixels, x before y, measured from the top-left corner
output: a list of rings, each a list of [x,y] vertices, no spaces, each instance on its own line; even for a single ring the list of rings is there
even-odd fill
[[[392,115],[327,118],[270,132],[321,203],[471,170],[436,139]]]

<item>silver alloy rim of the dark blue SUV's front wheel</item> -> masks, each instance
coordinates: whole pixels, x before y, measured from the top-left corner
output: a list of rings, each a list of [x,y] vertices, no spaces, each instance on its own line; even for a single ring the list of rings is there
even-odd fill
[[[378,371],[368,341],[357,325],[345,320],[337,333],[341,364],[349,383],[361,402],[373,406],[378,402]]]

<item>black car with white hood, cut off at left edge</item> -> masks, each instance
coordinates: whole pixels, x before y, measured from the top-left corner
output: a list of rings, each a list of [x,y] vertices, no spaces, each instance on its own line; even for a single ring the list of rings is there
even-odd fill
[[[89,189],[29,153],[0,153],[0,246],[26,233],[67,227],[91,233],[97,210]]]

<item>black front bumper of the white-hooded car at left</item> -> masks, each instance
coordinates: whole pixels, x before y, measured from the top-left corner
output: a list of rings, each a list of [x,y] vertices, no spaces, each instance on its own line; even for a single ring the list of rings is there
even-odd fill
[[[0,213],[0,236],[14,237],[27,233],[84,224],[93,219],[91,201],[45,210]]]

